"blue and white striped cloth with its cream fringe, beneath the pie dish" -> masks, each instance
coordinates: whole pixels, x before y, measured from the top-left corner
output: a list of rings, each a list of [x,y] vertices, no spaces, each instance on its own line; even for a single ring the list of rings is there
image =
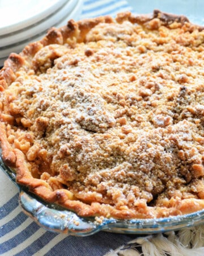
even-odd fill
[[[85,0],[80,18],[115,16],[126,10],[131,10],[126,0]],[[49,232],[22,212],[18,188],[0,170],[0,255],[134,256],[139,255],[140,247],[145,256],[167,255],[165,252],[173,256],[198,256],[204,255],[203,237],[203,226],[146,237],[108,232],[73,237]]]

